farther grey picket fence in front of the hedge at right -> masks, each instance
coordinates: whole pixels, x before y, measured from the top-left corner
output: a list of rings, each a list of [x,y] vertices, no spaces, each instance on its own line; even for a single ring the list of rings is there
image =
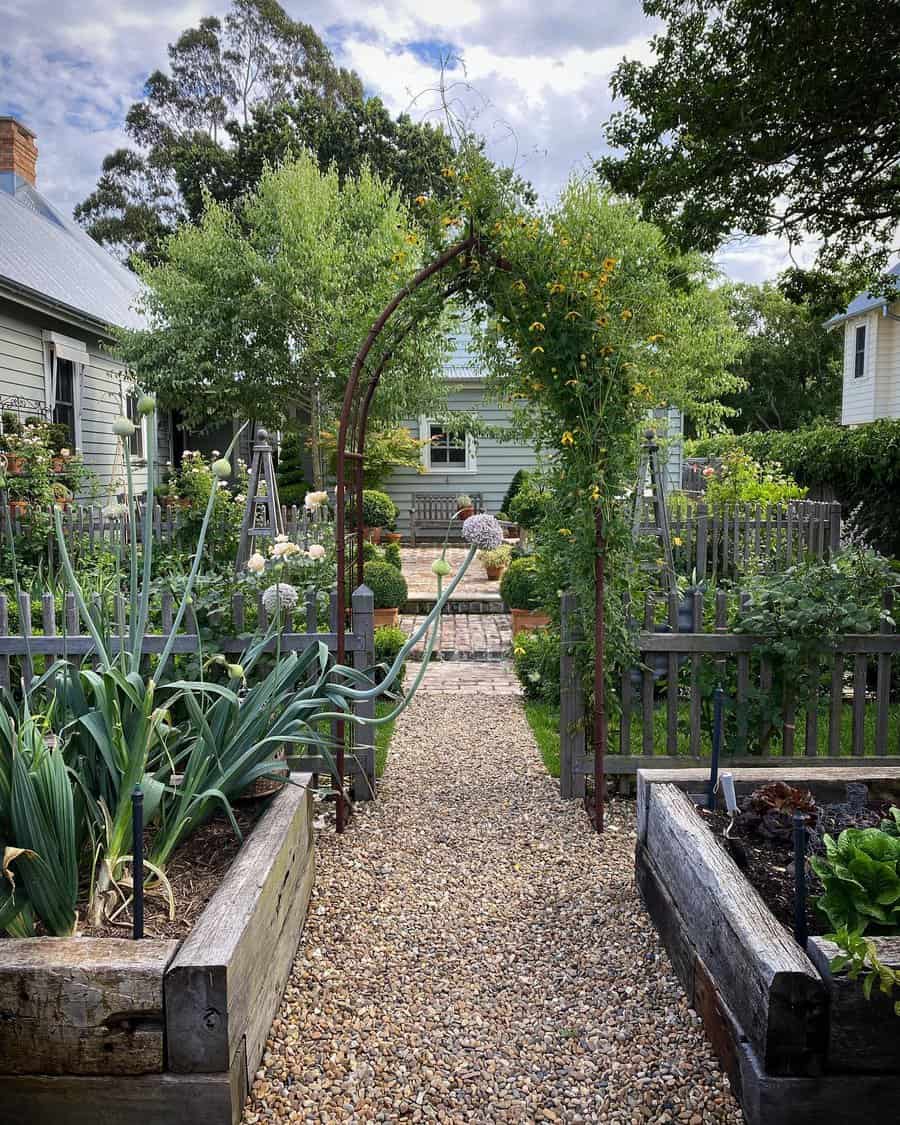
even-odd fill
[[[784,569],[804,557],[828,558],[840,549],[840,504],[791,501],[788,504],[699,503],[669,514],[676,568],[698,578],[734,578],[753,560]]]

